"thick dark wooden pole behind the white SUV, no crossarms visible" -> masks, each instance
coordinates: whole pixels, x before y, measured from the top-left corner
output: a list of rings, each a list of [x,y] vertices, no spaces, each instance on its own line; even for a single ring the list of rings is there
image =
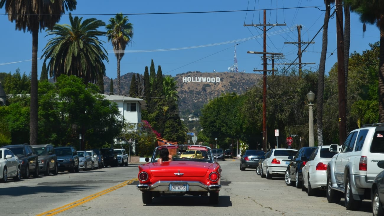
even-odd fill
[[[337,40],[337,70],[339,90],[339,145],[343,145],[347,137],[346,123],[346,92],[344,71],[344,32],[343,32],[343,4],[336,0],[336,40]]]

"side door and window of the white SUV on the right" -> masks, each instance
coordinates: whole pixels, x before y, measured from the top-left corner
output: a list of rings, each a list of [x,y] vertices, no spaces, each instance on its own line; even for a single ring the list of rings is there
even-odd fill
[[[356,141],[357,135],[357,131],[348,134],[343,146],[341,147],[341,152],[336,157],[334,164],[336,182],[344,183],[344,168],[345,165],[348,163],[350,155],[353,152],[353,146]]]

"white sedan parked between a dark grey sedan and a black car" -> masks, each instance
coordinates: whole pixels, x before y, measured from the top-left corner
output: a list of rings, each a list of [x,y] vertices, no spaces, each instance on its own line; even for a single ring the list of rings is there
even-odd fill
[[[297,150],[291,148],[271,149],[271,155],[269,158],[265,158],[262,163],[262,178],[271,179],[273,176],[284,175],[288,164],[291,162],[288,157],[295,156],[296,153]]]

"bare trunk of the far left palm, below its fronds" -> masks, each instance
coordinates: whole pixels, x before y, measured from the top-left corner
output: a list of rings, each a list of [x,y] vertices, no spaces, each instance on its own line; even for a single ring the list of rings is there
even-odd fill
[[[31,104],[30,104],[30,144],[37,144],[37,45],[38,27],[32,30],[32,69],[31,69]]]

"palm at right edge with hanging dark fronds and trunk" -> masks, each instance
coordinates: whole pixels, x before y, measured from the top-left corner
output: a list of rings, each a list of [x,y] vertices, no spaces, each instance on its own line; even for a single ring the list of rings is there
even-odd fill
[[[379,122],[384,122],[384,0],[344,0],[351,11],[360,15],[360,21],[376,24],[380,29],[379,49]],[[365,28],[363,28],[365,31]]]

